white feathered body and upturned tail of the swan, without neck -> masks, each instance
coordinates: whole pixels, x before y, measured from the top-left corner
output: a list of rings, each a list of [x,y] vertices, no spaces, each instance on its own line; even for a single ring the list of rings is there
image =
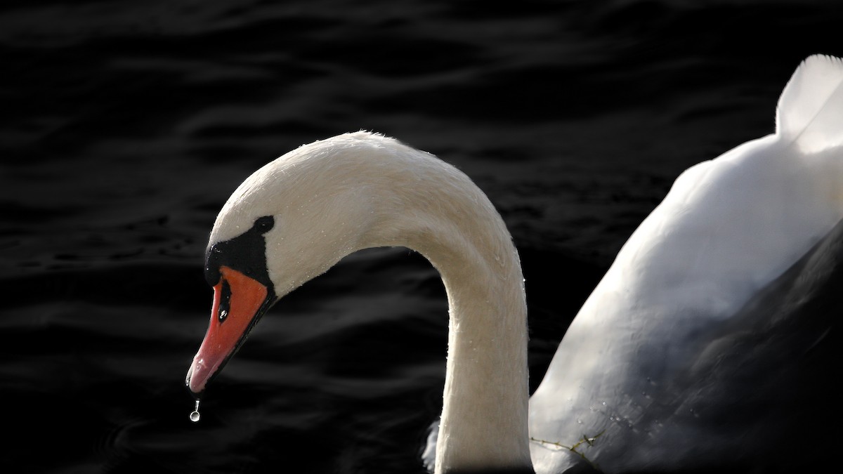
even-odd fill
[[[843,218],[841,124],[843,64],[809,57],[781,94],[775,134],[679,176],[566,331],[530,401],[534,438],[573,444],[604,433],[588,456],[607,472],[751,463],[770,448],[764,431],[774,416],[761,403],[737,427],[724,421],[741,406],[738,385],[759,374],[720,380],[717,390],[702,374],[686,378],[711,367],[722,328]],[[787,350],[797,353],[767,349]],[[756,369],[775,378],[783,367]],[[738,448],[725,449],[725,439]],[[532,451],[540,472],[576,461],[546,444]]]

